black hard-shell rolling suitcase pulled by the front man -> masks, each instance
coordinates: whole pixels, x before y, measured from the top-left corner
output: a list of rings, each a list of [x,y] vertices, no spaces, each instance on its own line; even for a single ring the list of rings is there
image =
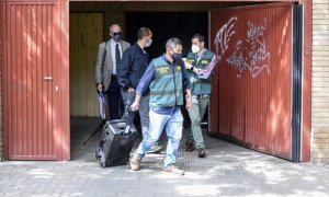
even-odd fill
[[[126,127],[125,119],[106,121],[95,151],[101,167],[125,165],[136,136],[135,127]]]

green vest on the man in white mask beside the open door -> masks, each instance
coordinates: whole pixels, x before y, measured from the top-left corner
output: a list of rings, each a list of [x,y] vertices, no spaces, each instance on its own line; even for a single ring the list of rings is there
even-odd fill
[[[200,61],[196,65],[195,55],[193,53],[190,53],[188,55],[186,61],[193,67],[198,69],[204,69],[208,63],[212,62],[212,59],[214,57],[214,54],[209,50],[207,50],[200,59]],[[206,94],[209,95],[212,92],[212,81],[213,81],[213,74],[209,76],[208,79],[198,79],[198,76],[194,73],[192,70],[188,69],[189,79],[192,84],[192,94]]]

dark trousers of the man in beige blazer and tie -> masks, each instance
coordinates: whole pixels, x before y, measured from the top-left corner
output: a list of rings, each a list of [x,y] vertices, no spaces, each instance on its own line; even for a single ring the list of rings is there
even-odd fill
[[[106,91],[109,115],[110,120],[121,119],[124,112],[124,104],[121,95],[121,88],[118,85],[117,79],[112,79],[111,84]]]

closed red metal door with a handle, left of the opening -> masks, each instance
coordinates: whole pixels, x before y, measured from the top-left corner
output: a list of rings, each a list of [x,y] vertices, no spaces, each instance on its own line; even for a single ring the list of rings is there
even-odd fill
[[[61,8],[59,0],[1,2],[9,160],[69,159],[68,40]]]

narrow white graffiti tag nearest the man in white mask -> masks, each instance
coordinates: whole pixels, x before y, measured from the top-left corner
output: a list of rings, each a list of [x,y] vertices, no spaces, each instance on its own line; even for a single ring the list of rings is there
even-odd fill
[[[226,24],[224,24],[216,34],[214,44],[216,46],[217,61],[220,61],[222,56],[228,48],[228,42],[230,37],[236,33],[234,27],[238,18],[231,18]]]

